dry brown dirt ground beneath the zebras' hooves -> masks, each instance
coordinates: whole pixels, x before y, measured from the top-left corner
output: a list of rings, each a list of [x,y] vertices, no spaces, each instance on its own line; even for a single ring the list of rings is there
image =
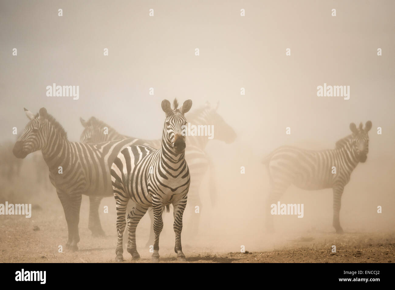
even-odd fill
[[[43,218],[43,217],[42,217]],[[51,222],[40,222],[40,230],[34,231],[27,219],[8,219],[2,224],[0,237],[0,260],[2,262],[115,262],[116,235],[92,237],[88,229],[80,231],[79,251],[64,250],[58,253],[58,240],[66,241],[63,218],[55,217]],[[61,230],[62,229],[62,230]],[[332,253],[329,240],[335,240],[338,246]],[[141,240],[140,240],[141,241]],[[139,243],[143,244],[143,243]],[[138,245],[139,245],[138,244]],[[266,251],[228,252],[213,251],[210,247],[184,245],[183,251],[187,262],[192,263],[273,263],[273,262],[313,262],[313,263],[366,263],[394,262],[395,235],[393,233],[376,234],[314,234],[308,238],[299,237],[288,241],[288,245],[278,246]],[[150,253],[140,251],[141,260],[150,262]],[[170,246],[160,248],[161,262],[177,262],[176,255]],[[124,262],[134,262],[124,245]]]

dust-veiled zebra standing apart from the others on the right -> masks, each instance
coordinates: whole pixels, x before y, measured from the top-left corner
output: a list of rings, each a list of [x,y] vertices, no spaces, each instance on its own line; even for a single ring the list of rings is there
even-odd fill
[[[335,149],[308,151],[296,147],[283,146],[271,152],[263,160],[270,177],[270,193],[267,205],[279,201],[284,191],[291,185],[305,190],[333,189],[333,227],[342,233],[339,213],[344,186],[359,162],[367,159],[369,151],[368,132],[372,122],[367,121],[365,129],[350,124],[351,135],[336,142]],[[333,174],[333,166],[336,173]],[[267,210],[266,226],[273,231],[273,218]]]

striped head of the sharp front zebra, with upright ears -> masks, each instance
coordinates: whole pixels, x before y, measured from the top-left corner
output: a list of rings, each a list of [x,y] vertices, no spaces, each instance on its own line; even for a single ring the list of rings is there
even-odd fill
[[[182,134],[181,127],[186,125],[184,114],[190,110],[192,100],[186,100],[181,108],[178,107],[177,99],[174,99],[173,109],[171,109],[168,100],[162,101],[162,110],[166,113],[166,120],[163,126],[162,139],[176,153],[182,153],[185,150],[185,134]]]

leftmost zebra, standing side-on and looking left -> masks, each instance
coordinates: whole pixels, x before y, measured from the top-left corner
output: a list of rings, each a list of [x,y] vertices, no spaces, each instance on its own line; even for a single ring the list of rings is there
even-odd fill
[[[109,141],[96,145],[70,142],[64,128],[41,108],[33,115],[24,108],[30,121],[13,148],[17,158],[41,150],[49,167],[49,179],[60,199],[68,226],[66,248],[78,250],[81,194],[110,196],[110,168],[118,153],[135,143],[134,139]]]

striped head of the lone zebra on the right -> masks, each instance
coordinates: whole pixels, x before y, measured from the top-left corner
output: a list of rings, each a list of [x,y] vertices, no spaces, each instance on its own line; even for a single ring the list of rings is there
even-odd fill
[[[355,151],[359,162],[365,162],[369,152],[369,136],[368,132],[372,128],[372,122],[367,121],[365,129],[362,128],[362,123],[359,128],[354,123],[350,124],[352,132],[352,149]]]

